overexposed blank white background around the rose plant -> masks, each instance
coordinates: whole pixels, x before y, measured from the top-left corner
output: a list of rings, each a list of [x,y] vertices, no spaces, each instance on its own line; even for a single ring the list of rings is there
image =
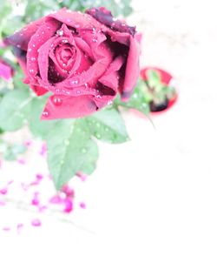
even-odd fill
[[[143,34],[141,64],[174,75],[177,104],[153,119],[155,129],[126,113],[131,141],[101,144],[95,173],[85,183],[74,181],[87,203],[72,214],[74,224],[53,214],[19,236],[1,232],[0,255],[217,255],[216,7],[211,1],[133,3],[128,21]],[[36,171],[36,158],[32,153],[25,168]],[[16,164],[4,168],[19,177],[28,172]],[[7,211],[0,223],[7,214],[15,221],[33,214],[16,204]]]

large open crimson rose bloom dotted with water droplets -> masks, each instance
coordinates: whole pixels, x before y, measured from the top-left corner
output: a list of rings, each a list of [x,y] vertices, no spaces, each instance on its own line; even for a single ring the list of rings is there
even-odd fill
[[[85,14],[63,8],[5,38],[14,46],[26,84],[52,92],[42,119],[80,118],[128,100],[139,76],[135,27],[105,8]]]

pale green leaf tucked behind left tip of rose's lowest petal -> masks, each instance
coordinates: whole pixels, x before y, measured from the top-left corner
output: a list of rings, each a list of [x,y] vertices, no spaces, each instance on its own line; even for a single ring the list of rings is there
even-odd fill
[[[29,126],[33,135],[40,138],[45,138],[47,134],[53,129],[53,126],[57,123],[56,120],[41,120],[41,115],[44,109],[44,105],[47,101],[46,97],[33,98],[30,105],[30,118]]]

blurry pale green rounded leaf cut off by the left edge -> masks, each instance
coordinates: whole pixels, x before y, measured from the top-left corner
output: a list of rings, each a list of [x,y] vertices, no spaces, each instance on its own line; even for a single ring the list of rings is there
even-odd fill
[[[4,95],[0,103],[0,127],[4,131],[20,129],[30,111],[28,91],[15,90]]]

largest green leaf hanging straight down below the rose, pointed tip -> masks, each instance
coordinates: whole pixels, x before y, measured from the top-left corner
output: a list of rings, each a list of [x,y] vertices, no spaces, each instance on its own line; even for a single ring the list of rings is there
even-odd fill
[[[49,171],[56,189],[78,171],[90,174],[95,170],[98,148],[83,119],[58,121],[49,132],[47,145]]]

